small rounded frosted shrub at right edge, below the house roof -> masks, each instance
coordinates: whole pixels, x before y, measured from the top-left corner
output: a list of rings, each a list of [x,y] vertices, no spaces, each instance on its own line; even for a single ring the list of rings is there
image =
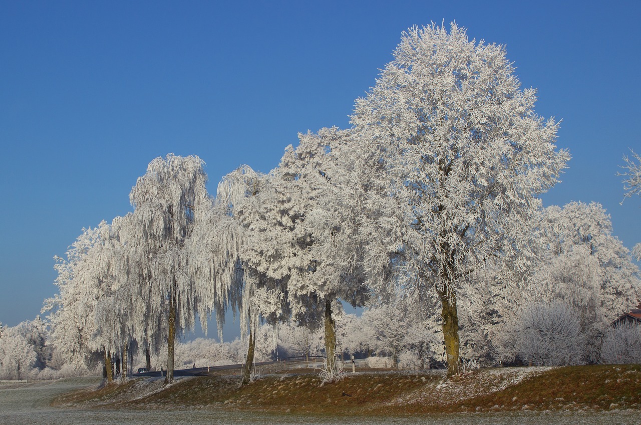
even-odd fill
[[[641,326],[620,324],[603,336],[601,360],[608,364],[641,363]]]

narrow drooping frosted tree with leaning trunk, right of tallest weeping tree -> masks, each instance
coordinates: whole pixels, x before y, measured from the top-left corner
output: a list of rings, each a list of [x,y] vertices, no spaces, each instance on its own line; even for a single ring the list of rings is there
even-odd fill
[[[218,185],[215,209],[194,232],[194,248],[204,256],[196,256],[192,264],[197,266],[197,275],[213,284],[218,329],[222,329],[227,308],[240,312],[241,337],[247,342],[242,385],[252,379],[256,331],[261,320],[276,325],[288,315],[284,280],[254,268],[243,255],[251,250],[253,239],[238,211],[265,191],[269,178],[249,166],[240,166],[225,175]],[[273,340],[275,347],[275,334]]]

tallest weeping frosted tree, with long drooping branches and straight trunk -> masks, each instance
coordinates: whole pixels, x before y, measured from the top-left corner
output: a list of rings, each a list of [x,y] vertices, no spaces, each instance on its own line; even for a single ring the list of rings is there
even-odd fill
[[[146,303],[147,314],[167,320],[165,383],[174,378],[176,333],[193,327],[196,314],[208,308],[202,304],[202,287],[188,274],[183,249],[194,218],[212,205],[203,166],[195,155],[158,157],[129,195],[134,206],[131,229],[135,230],[128,236],[134,253],[129,257],[129,279],[142,288],[139,302]]]

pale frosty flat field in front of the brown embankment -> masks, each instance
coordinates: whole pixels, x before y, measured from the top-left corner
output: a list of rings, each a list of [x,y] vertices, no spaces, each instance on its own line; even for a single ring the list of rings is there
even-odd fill
[[[58,394],[87,386],[96,386],[96,378],[62,379],[54,382],[30,383],[27,385],[0,386],[0,424],[581,424],[623,425],[641,422],[638,411],[606,412],[569,415],[565,413],[520,413],[461,414],[431,416],[427,418],[361,418],[351,421],[328,417],[299,417],[294,415],[264,415],[251,412],[220,412],[204,410],[174,410],[171,412],[128,410],[62,410],[49,403]]]

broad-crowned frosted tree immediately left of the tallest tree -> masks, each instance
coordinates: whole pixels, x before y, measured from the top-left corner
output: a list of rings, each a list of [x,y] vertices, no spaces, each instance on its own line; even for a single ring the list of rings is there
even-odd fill
[[[346,135],[335,128],[299,135],[262,193],[236,211],[249,234],[247,266],[285,282],[297,324],[323,318],[328,371],[336,369],[337,299],[362,306],[368,295],[353,210],[344,207],[354,200],[338,185],[342,168],[334,150]]]

